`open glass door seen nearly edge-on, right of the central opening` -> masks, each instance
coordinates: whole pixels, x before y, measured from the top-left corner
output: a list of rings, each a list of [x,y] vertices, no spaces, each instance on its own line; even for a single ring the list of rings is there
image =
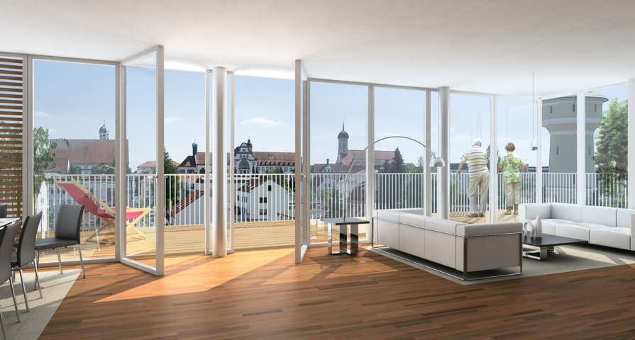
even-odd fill
[[[309,81],[302,61],[295,62],[295,192],[293,215],[295,218],[295,261],[302,263],[309,247]]]

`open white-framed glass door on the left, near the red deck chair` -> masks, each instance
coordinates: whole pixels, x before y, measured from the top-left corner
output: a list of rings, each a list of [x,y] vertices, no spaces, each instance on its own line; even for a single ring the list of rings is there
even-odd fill
[[[120,65],[121,146],[129,164],[120,166],[125,209],[119,223],[121,262],[163,274],[165,182],[163,145],[163,47]],[[124,173],[125,171],[125,173]]]

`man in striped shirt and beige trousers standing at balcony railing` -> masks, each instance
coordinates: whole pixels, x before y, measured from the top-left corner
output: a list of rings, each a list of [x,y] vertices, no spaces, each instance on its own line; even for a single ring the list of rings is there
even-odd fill
[[[468,164],[470,177],[470,215],[468,217],[483,217],[487,209],[487,193],[490,191],[490,174],[487,170],[487,151],[483,149],[482,142],[475,138],[472,147],[465,150],[458,164],[457,176],[460,176],[465,163]],[[478,203],[478,193],[480,191],[480,205]]]

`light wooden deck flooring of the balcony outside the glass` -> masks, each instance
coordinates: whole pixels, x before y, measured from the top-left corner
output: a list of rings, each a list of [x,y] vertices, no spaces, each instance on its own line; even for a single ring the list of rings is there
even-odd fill
[[[453,220],[461,222],[485,222],[489,217],[470,218],[467,213],[453,213]],[[504,215],[499,211],[499,221],[518,219],[514,215]],[[234,229],[234,247],[236,250],[263,249],[276,247],[289,247],[295,244],[294,221],[275,222],[249,222],[236,223]],[[138,234],[128,237],[128,254],[148,255],[154,254],[155,234],[152,229],[142,228],[146,239],[141,239]],[[360,231],[365,234],[365,231]],[[84,232],[83,238],[91,236],[93,232]],[[102,232],[101,239],[112,239],[112,232]],[[311,243],[325,243],[327,241],[326,227],[318,223],[311,227]],[[114,258],[115,248],[112,244],[101,244],[99,249],[97,242],[91,240],[82,244],[84,259]],[[165,227],[165,254],[193,254],[204,252],[204,230],[202,225],[189,225],[180,227]],[[79,259],[76,251],[68,249],[62,251],[62,261],[74,261]],[[40,256],[40,262],[57,262],[57,253],[47,252]]]

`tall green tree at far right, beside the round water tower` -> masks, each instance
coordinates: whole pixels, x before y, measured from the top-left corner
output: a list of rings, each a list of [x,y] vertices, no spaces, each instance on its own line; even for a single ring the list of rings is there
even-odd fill
[[[628,153],[628,101],[617,98],[609,103],[607,111],[600,117],[596,152],[593,155],[598,180],[604,185],[602,194],[615,198],[614,188],[626,187],[626,154]],[[615,202],[614,204],[619,204]]]

